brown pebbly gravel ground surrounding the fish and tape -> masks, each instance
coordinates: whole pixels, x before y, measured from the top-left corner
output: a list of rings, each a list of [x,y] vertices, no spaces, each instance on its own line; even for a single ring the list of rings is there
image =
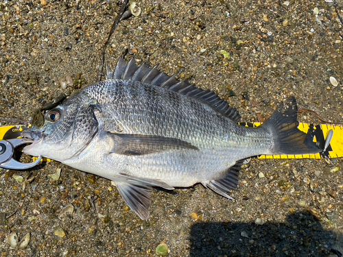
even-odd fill
[[[300,106],[342,123],[343,1],[327,2],[137,1],[141,14],[119,23],[106,62],[135,53],[139,64],[159,64],[215,90],[242,121],[269,117],[294,95]],[[120,8],[113,0],[1,0],[0,116],[29,122],[60,93],[98,82]],[[309,113],[299,119],[321,123]],[[157,256],[163,242],[158,252],[169,256],[340,256],[343,169],[342,159],[331,161],[253,159],[230,194],[237,201],[201,185],[155,188],[147,221],[103,178],[58,162],[2,169],[0,254]],[[58,169],[54,180],[49,174]],[[72,213],[63,209],[69,204]],[[11,248],[12,232],[30,233],[29,245]]]

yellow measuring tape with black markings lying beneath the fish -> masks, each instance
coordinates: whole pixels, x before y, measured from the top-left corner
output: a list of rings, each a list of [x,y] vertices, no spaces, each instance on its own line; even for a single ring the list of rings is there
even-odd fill
[[[239,123],[246,127],[258,127],[262,123]],[[27,130],[27,126],[14,125],[0,127],[0,140],[17,138],[21,136],[21,132]],[[298,155],[274,155],[274,156],[258,156],[259,159],[322,159],[322,158],[340,158],[343,157],[343,127],[341,125],[327,125],[327,124],[308,124],[299,123],[298,129],[310,134],[314,138],[314,142],[319,143],[320,147],[324,149],[325,140],[329,131],[333,131],[330,144],[326,151],[320,154],[298,154]],[[331,132],[332,133],[332,132]],[[47,160],[47,159],[45,159]],[[49,161],[49,160],[48,160]]]

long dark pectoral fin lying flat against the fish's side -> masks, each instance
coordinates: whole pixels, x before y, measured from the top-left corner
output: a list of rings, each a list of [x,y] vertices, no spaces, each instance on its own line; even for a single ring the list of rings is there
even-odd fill
[[[110,133],[110,135],[115,141],[115,147],[110,152],[126,156],[143,156],[173,149],[199,150],[198,147],[178,138],[142,134]]]

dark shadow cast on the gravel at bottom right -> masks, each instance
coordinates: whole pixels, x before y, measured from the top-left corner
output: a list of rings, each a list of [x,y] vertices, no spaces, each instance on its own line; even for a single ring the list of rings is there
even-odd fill
[[[285,223],[196,223],[189,236],[190,256],[341,257],[342,238],[324,230],[310,212],[289,215]]]

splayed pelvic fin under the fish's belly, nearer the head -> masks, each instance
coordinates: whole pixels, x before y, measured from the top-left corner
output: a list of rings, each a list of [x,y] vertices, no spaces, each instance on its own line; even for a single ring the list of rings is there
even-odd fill
[[[113,182],[115,182],[126,204],[143,220],[149,218],[149,207],[152,203],[152,186],[160,186],[168,190],[174,189],[174,187],[169,186],[165,182],[137,178],[126,174],[116,175]]]

